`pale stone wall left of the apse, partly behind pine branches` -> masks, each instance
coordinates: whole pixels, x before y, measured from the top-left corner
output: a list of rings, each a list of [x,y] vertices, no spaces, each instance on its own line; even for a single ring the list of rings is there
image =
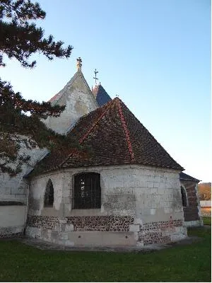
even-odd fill
[[[0,237],[23,233],[28,196],[28,183],[23,180],[23,175],[35,165],[43,154],[47,153],[46,149],[39,149],[38,146],[30,147],[27,142],[28,137],[18,137],[20,140],[18,155],[30,156],[30,161],[28,161],[28,165],[23,164],[22,172],[14,177],[0,171]],[[4,159],[1,159],[0,162],[4,163]],[[16,168],[17,163],[10,165],[12,168]]]

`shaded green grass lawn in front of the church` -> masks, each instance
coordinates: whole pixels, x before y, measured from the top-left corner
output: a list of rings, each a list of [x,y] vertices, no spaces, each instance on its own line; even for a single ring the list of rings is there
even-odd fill
[[[211,230],[187,246],[153,253],[39,250],[0,241],[1,282],[211,282]]]

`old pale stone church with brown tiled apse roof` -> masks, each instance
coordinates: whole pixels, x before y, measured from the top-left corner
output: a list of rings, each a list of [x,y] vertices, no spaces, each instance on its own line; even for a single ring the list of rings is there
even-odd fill
[[[78,146],[37,148],[30,168],[12,183],[0,178],[0,236],[24,232],[64,246],[146,246],[186,238],[187,226],[202,225],[199,180],[182,173],[122,100],[112,99],[100,83],[91,90],[81,67],[78,58],[76,74],[49,100],[66,105],[64,112],[43,121]]]

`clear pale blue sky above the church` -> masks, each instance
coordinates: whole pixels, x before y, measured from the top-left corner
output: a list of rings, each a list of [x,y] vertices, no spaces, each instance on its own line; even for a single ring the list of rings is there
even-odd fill
[[[76,72],[119,96],[188,173],[211,181],[211,3],[209,0],[42,0],[45,34],[73,45],[69,59],[23,69],[6,60],[1,78],[24,98],[49,100]]]

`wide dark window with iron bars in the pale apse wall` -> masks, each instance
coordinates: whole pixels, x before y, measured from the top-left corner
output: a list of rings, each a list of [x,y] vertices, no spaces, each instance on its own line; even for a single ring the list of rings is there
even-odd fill
[[[82,173],[75,175],[73,209],[92,209],[100,207],[100,174]]]

